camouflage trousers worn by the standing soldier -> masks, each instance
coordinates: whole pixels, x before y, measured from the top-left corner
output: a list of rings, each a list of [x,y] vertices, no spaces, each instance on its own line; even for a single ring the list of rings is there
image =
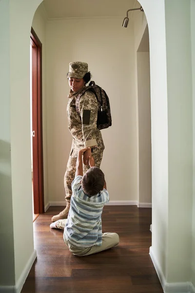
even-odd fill
[[[92,152],[92,157],[95,160],[95,166],[100,167],[103,156],[103,149],[95,147]],[[69,156],[66,173],[64,175],[65,200],[70,202],[72,195],[71,184],[75,178],[77,157]],[[89,166],[83,164],[83,174],[89,169]]]

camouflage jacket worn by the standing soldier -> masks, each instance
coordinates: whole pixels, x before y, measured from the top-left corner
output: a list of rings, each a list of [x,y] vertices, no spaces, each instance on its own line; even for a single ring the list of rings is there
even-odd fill
[[[73,137],[71,148],[73,157],[77,157],[78,150],[82,147],[97,146],[98,149],[104,149],[101,132],[97,127],[98,102],[96,96],[90,91],[83,94],[79,101],[79,117],[75,104],[80,91],[77,93],[71,91],[68,95],[67,116],[68,128]]]

